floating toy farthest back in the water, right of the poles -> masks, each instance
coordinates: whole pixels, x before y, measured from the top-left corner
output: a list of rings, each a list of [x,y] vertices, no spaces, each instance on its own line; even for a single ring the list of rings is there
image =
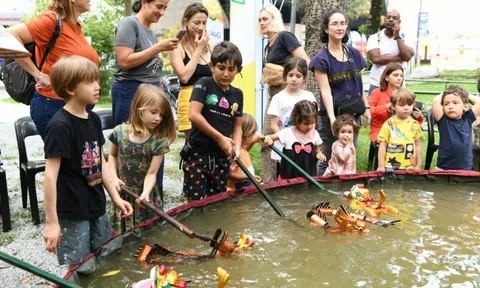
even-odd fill
[[[380,213],[392,213],[398,215],[400,212],[388,205],[383,205],[387,200],[387,195],[383,189],[380,189],[380,200],[376,203],[370,194],[370,190],[365,188],[364,184],[353,185],[350,192],[345,192],[344,195],[348,199],[352,200],[350,202],[350,209],[352,210],[363,210],[368,213],[370,216],[377,217]]]

